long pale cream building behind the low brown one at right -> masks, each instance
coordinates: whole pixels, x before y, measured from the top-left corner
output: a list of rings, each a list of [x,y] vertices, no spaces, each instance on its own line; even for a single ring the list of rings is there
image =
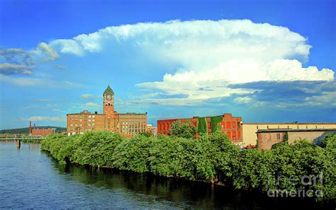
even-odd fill
[[[256,146],[258,130],[265,129],[336,129],[336,123],[311,122],[311,123],[243,123],[243,146]]]

